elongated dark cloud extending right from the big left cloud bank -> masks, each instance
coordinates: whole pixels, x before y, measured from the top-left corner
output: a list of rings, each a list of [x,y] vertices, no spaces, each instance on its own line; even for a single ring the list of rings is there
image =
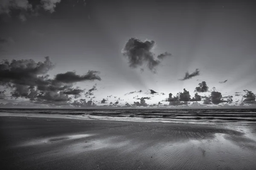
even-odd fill
[[[57,74],[55,80],[64,83],[74,83],[81,82],[85,80],[101,80],[101,78],[97,75],[100,73],[99,71],[91,71],[89,70],[87,74],[80,76],[77,75],[76,72],[68,71],[66,73]]]

